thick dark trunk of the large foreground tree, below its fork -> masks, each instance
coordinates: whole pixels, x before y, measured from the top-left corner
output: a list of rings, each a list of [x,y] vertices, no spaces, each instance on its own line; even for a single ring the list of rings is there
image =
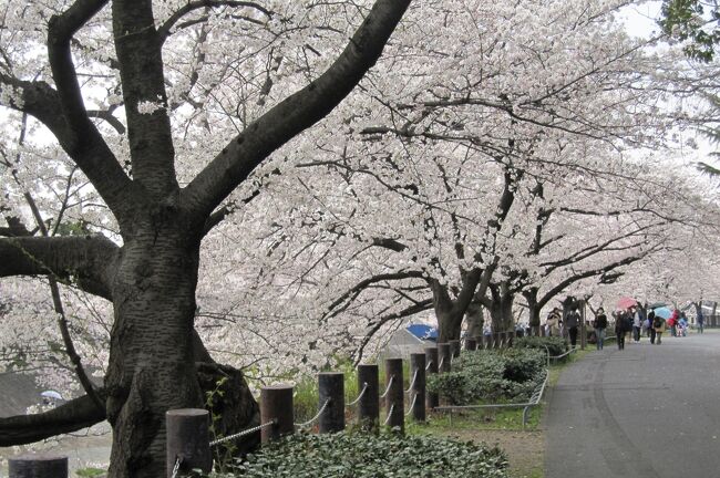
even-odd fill
[[[165,412],[202,408],[205,402],[193,351],[199,228],[165,215],[154,215],[126,238],[113,283],[105,377],[112,478],[164,476]],[[241,414],[257,408],[249,393],[241,404],[250,404]]]

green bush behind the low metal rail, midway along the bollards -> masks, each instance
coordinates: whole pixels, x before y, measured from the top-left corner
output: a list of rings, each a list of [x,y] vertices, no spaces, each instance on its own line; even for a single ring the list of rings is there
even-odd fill
[[[454,405],[526,401],[537,386],[546,353],[529,349],[464,352],[453,371],[428,377],[428,389]]]

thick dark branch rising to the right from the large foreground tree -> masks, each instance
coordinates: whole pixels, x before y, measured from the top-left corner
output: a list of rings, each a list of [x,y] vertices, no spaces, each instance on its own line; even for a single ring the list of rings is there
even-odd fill
[[[378,61],[409,4],[378,0],[325,73],[250,123],[185,188],[191,207],[208,216],[268,155],[332,111]]]

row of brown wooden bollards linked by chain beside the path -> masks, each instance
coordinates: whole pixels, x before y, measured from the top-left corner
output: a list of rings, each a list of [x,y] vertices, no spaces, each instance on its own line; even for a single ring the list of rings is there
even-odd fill
[[[514,333],[497,333],[465,340],[466,350],[501,349],[511,346]],[[346,407],[357,406],[358,426],[378,433],[381,425],[404,433],[405,393],[410,404],[408,414],[418,422],[424,422],[426,409],[440,405],[438,394],[425,389],[428,374],[451,371],[452,358],[460,355],[460,341],[439,343],[426,347],[424,353],[410,355],[410,386],[404,389],[402,358],[384,361],[385,383],[380,392],[379,366],[358,365],[359,396],[346,405],[344,374],[322,372],[318,374],[318,432],[321,434],[341,432],[346,428]],[[291,385],[274,385],[260,389],[260,426],[251,430],[259,433],[263,443],[295,433],[298,424],[294,416],[294,388]],[[381,422],[380,401],[384,401],[385,416]],[[192,469],[209,471],[212,468],[212,443],[209,439],[209,414],[205,409],[184,408],[166,413],[167,477],[173,470],[183,476]],[[315,423],[315,422],[313,422]],[[306,424],[304,424],[306,425]],[[309,423],[308,423],[309,425]],[[220,441],[219,440],[216,441]],[[177,460],[182,457],[182,461]],[[9,478],[68,478],[68,458],[43,455],[23,455],[9,459]]]

